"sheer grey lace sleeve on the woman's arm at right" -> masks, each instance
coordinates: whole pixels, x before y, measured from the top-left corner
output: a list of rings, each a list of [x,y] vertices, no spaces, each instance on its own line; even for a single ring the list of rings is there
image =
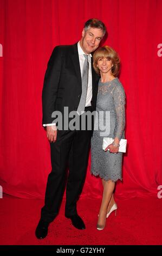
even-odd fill
[[[114,106],[116,111],[115,136],[121,139],[125,129],[125,92],[121,85],[114,90]]]

